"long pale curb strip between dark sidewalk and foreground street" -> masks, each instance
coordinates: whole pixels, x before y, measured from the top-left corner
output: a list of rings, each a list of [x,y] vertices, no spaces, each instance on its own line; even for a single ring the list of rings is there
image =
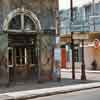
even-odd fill
[[[25,100],[100,87],[100,82],[0,94],[0,100]],[[2,99],[6,96],[5,99]],[[10,97],[10,98],[8,98]]]

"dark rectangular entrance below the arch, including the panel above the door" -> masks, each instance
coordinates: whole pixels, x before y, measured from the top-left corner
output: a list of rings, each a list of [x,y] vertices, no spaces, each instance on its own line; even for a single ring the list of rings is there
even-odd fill
[[[38,51],[36,35],[8,35],[9,81],[37,79]]]

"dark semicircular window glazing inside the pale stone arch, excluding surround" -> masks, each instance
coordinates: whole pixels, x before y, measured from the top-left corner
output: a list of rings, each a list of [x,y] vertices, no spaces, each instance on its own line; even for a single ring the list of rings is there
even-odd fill
[[[35,21],[30,16],[25,14],[18,14],[14,16],[8,24],[9,30],[36,30]]]

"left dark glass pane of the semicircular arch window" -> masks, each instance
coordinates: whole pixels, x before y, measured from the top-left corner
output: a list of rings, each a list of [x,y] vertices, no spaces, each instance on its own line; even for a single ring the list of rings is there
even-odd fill
[[[8,29],[21,29],[21,16],[16,15],[9,23]]]

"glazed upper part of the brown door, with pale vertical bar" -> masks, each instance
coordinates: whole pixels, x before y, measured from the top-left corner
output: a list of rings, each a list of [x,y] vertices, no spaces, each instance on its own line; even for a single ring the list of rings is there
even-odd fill
[[[36,63],[35,48],[16,48],[16,64]]]

